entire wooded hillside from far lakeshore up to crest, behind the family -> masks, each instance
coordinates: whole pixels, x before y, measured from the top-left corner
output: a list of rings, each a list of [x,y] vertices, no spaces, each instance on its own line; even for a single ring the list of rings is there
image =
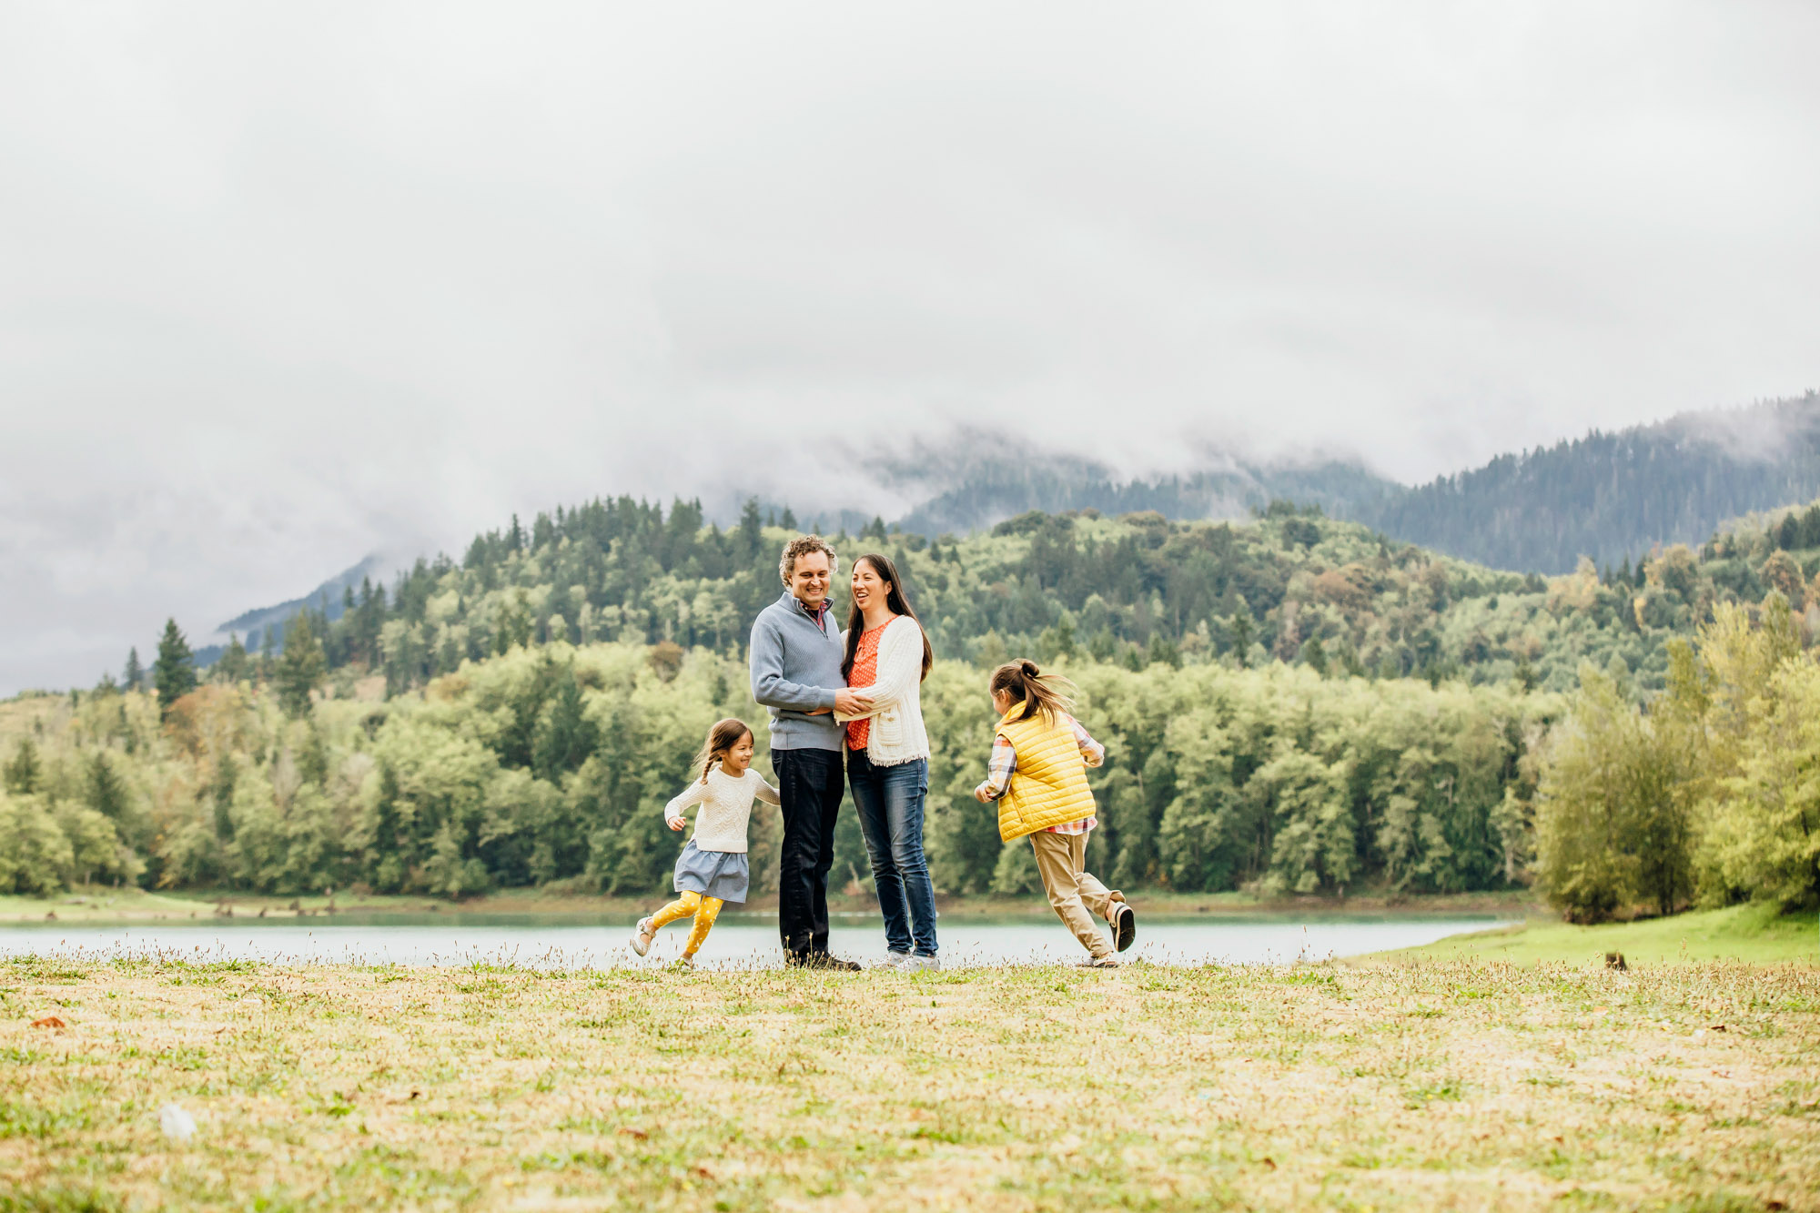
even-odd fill
[[[166,694],[109,678],[0,705],[0,892],[659,892],[677,845],[659,809],[703,730],[763,719],[743,647],[781,594],[792,534],[755,505],[732,530],[701,521],[693,503],[561,508],[475,537],[460,561],[349,586],[339,617],[293,616],[282,650],[231,645],[202,685],[169,625]],[[999,847],[968,796],[990,745],[983,674],[1006,656],[1057,663],[1087,692],[1112,754],[1094,774],[1096,845],[1117,882],[1421,892],[1525,878],[1543,739],[1582,672],[1603,672],[1620,705],[1665,683],[1685,694],[1698,679],[1673,683],[1673,645],[1714,612],[1764,603],[1791,621],[1795,654],[1820,621],[1820,505],[1554,579],[1287,503],[1238,525],[1025,514],[968,539],[835,543],[846,565],[864,550],[899,563],[939,656],[928,831],[950,892],[1037,887],[1028,849]],[[759,812],[761,889],[777,834]],[[1745,872],[1714,887],[1753,887],[1742,861],[1714,863]],[[837,865],[863,882],[852,814]],[[1616,878],[1587,912],[1645,889],[1598,871]]]

